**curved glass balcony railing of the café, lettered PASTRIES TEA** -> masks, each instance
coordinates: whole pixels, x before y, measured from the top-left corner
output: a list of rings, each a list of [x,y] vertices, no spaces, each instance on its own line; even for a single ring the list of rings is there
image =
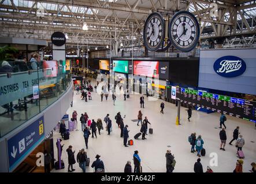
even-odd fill
[[[72,81],[57,61],[42,68],[0,74],[0,137],[57,101]]]

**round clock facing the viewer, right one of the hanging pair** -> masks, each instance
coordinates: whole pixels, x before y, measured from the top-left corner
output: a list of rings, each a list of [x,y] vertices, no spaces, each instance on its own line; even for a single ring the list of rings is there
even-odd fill
[[[180,51],[188,52],[195,48],[199,40],[200,28],[194,14],[179,11],[169,22],[170,42]]]

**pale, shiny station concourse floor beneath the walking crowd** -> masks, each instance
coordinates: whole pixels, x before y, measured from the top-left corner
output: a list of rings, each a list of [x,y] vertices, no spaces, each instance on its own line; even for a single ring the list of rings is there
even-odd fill
[[[206,149],[206,156],[201,157],[201,163],[203,165],[203,171],[206,171],[206,167],[210,166],[210,153],[215,152],[217,154],[218,166],[211,167],[214,172],[220,173],[232,173],[236,166],[236,148],[235,141],[233,145],[229,145],[229,141],[232,139],[233,130],[236,126],[240,127],[240,133],[243,135],[245,145],[243,152],[245,155],[243,172],[248,173],[251,170],[251,162],[256,162],[256,130],[254,123],[242,120],[239,118],[231,117],[227,115],[227,144],[225,146],[226,151],[220,150],[220,137],[219,132],[219,113],[206,114],[198,112],[197,110],[192,111],[191,122],[187,120],[187,111],[181,107],[181,125],[177,126],[176,116],[177,107],[175,104],[165,102],[164,114],[160,113],[161,100],[147,101],[145,98],[145,108],[140,108],[139,104],[140,95],[131,95],[127,101],[124,101],[123,95],[117,95],[116,106],[113,106],[112,95],[109,95],[108,101],[101,97],[97,93],[92,93],[92,100],[85,102],[80,99],[80,94],[76,94],[74,91],[73,107],[68,109],[67,114],[69,117],[72,116],[73,110],[77,111],[77,120],[79,120],[81,113],[87,112],[89,119],[97,121],[98,118],[102,119],[104,130],[101,131],[101,135],[98,138],[89,138],[87,156],[90,158],[90,167],[86,167],[86,172],[92,173],[94,170],[91,168],[92,162],[95,160],[97,154],[101,155],[101,160],[105,164],[105,172],[123,173],[124,166],[128,160],[133,165],[133,152],[139,151],[139,156],[142,159],[143,173],[157,173],[166,172],[166,150],[171,150],[175,156],[176,166],[174,173],[185,173],[194,172],[194,163],[198,156],[196,152],[192,154],[190,152],[191,145],[188,143],[188,136],[192,132],[196,132],[196,135],[202,135],[205,144],[203,147]],[[147,116],[149,122],[152,124],[154,130],[153,134],[146,135],[146,140],[142,140],[141,136],[138,140],[134,140],[133,136],[140,132],[140,127],[137,126],[137,122],[132,120],[137,119],[138,111],[142,110],[143,118]],[[134,140],[134,145],[124,147],[123,138],[120,138],[120,129],[117,127],[116,116],[117,112],[121,112],[124,118],[124,124],[128,125],[129,139]],[[106,114],[110,114],[112,120],[113,131],[110,135],[107,135],[105,129],[105,122],[103,118]],[[65,144],[62,151],[62,160],[64,160],[65,168],[62,170],[53,169],[51,172],[67,172],[68,171],[68,154],[66,149],[69,145],[73,146],[73,150],[77,152],[81,148],[86,148],[83,132],[81,132],[81,124],[78,121],[77,127],[79,131],[72,131],[69,140],[63,140],[62,144]],[[196,137],[197,137],[196,136]],[[57,138],[61,138],[60,133],[54,132],[54,158],[57,160],[57,147],[55,143]],[[129,140],[128,139],[128,140]],[[76,170],[74,172],[81,173],[82,170],[76,163],[73,165]]]

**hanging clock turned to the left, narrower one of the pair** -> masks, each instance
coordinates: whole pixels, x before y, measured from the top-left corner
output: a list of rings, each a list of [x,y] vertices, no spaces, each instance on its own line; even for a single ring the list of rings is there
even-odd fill
[[[157,51],[161,47],[165,36],[165,20],[161,14],[155,12],[147,17],[143,30],[144,46],[149,51]]]

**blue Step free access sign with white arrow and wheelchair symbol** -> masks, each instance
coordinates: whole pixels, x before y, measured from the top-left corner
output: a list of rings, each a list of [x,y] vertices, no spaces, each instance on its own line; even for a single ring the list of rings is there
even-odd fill
[[[11,172],[20,161],[44,139],[43,116],[31,125],[8,139],[9,171]]]

